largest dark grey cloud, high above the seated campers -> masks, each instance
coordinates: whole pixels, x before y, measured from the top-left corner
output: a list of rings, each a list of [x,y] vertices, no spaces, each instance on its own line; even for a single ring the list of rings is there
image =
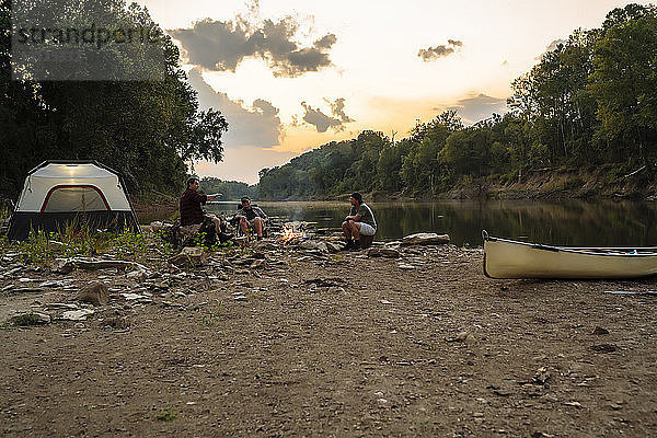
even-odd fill
[[[257,3],[250,7],[251,15],[257,12],[254,8]],[[296,41],[300,25],[292,16],[255,24],[238,16],[234,21],[206,19],[192,28],[168,33],[181,43],[189,64],[205,69],[234,72],[244,58],[254,57],[265,60],[274,76],[293,78],[331,66],[328,51],[337,42],[334,34],[326,34],[303,47]]]

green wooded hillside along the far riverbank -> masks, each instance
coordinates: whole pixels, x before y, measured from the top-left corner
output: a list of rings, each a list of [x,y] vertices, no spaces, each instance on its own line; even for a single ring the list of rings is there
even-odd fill
[[[511,83],[508,112],[464,126],[454,111],[393,142],[382,132],[334,141],[260,172],[265,199],[361,192],[435,196],[475,178],[531,169],[641,169],[657,158],[657,11],[627,4],[576,30]]]

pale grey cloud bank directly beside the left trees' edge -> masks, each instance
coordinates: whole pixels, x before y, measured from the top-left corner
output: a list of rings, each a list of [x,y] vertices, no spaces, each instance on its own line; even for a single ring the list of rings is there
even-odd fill
[[[204,81],[199,68],[189,71],[189,84],[198,92],[198,104],[203,110],[218,110],[228,120],[228,132],[222,137],[227,149],[244,146],[268,148],[280,145],[283,125],[278,108],[270,102],[256,99],[252,110],[247,110],[242,102],[232,101],[226,93],[212,90]]]

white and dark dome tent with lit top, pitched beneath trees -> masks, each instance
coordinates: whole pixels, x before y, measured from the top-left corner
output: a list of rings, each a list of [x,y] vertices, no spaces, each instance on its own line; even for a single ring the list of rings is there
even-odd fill
[[[27,174],[9,224],[9,239],[31,230],[59,231],[67,224],[90,229],[139,230],[122,178],[95,161],[45,161]]]

